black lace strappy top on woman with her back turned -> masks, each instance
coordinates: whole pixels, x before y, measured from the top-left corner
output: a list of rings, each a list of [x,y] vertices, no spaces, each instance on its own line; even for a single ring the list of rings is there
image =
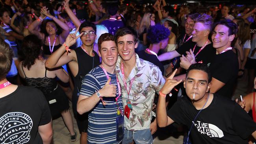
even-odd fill
[[[43,78],[27,78],[23,70],[23,63],[22,63],[22,71],[25,75],[26,85],[40,89],[43,92],[43,94],[53,92],[54,89],[56,89],[57,87],[57,81],[55,80],[55,78],[46,77],[46,69],[45,69],[45,77]]]

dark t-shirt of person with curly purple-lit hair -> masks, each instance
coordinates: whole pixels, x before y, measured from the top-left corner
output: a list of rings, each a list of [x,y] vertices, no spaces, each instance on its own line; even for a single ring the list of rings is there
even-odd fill
[[[156,57],[156,55],[148,54],[145,52],[145,50],[141,50],[137,52],[137,54],[139,55],[139,58],[144,59],[145,61],[149,61],[150,63],[153,63],[154,65],[158,66],[162,72],[162,75],[164,74],[165,69],[162,63]]]

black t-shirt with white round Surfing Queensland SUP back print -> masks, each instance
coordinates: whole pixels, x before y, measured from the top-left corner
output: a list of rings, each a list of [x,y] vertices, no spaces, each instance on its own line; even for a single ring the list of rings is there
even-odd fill
[[[43,93],[33,87],[18,86],[0,98],[0,144],[43,144],[38,127],[51,121]]]

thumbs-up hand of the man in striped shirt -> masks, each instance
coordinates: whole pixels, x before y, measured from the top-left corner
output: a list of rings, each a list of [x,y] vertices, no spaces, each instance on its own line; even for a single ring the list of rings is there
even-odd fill
[[[107,83],[104,87],[99,91],[101,96],[104,97],[115,97],[117,94],[117,86],[110,84],[111,78],[108,78]]]

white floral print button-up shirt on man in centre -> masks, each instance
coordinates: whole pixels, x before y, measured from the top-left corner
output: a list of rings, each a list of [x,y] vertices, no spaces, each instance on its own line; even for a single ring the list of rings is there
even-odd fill
[[[148,129],[151,123],[155,93],[158,93],[165,83],[161,70],[158,66],[140,59],[136,54],[136,65],[132,69],[128,79],[126,79],[127,89],[129,90],[130,80],[134,78],[129,96],[122,80],[120,56],[117,59],[115,70],[122,89],[124,107],[127,100],[132,104],[129,119],[124,116],[124,127],[128,130]]]

